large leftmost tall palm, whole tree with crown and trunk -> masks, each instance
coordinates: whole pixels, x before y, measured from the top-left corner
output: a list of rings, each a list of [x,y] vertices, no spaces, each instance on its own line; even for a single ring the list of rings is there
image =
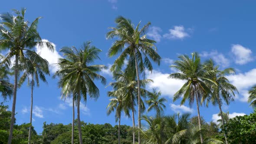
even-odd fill
[[[16,16],[10,13],[3,13],[0,15],[0,51],[8,50],[5,62],[7,59],[14,57],[14,88],[13,88],[13,106],[12,116],[10,122],[10,134],[8,144],[11,144],[13,136],[13,124],[15,117],[16,94],[18,84],[19,63],[24,62],[26,53],[33,53],[31,49],[35,46],[46,46],[48,49],[53,50],[53,45],[49,42],[42,42],[39,33],[37,32],[37,24],[40,17],[36,18],[32,23],[29,23],[24,18],[26,9],[22,8],[21,11],[14,10]]]

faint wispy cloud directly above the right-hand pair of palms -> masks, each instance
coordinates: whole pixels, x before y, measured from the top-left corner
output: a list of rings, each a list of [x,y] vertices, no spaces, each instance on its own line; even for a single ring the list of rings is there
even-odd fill
[[[216,50],[213,50],[211,52],[202,52],[201,56],[206,58],[210,57],[211,59],[213,59],[214,62],[222,67],[227,67],[230,65],[230,60]]]

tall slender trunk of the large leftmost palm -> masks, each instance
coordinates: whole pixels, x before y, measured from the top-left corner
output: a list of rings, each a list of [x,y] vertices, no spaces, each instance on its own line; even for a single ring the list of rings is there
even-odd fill
[[[12,143],[13,137],[13,125],[15,120],[15,105],[16,105],[16,95],[17,95],[17,84],[18,84],[18,54],[15,55],[15,70],[14,70],[14,88],[13,88],[13,107],[12,107],[12,116],[10,121],[10,134],[8,137],[8,144]]]

